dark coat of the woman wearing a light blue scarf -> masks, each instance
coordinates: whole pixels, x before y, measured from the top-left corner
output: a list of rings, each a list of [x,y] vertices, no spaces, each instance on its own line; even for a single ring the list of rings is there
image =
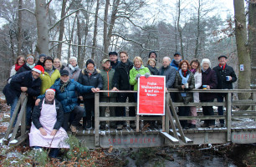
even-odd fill
[[[189,78],[187,79],[187,83],[188,83],[188,89],[182,89],[182,77],[180,75],[180,73],[177,71],[176,73],[176,78],[175,78],[175,82],[174,82],[174,88],[175,89],[179,89],[182,91],[182,93],[186,92],[186,90],[192,90],[195,88],[195,78],[193,73],[191,73],[189,70],[187,70],[187,74],[190,73]],[[193,93],[187,93],[186,94],[186,98],[182,97],[182,94],[178,93],[176,94],[177,98],[177,102],[184,102],[184,103],[188,103],[188,102],[193,102]]]

